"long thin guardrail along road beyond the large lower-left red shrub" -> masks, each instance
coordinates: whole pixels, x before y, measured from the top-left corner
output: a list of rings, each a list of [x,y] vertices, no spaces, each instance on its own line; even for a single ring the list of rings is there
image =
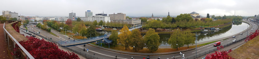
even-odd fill
[[[23,28],[21,28],[21,29],[23,29]],[[26,29],[23,29],[23,30],[26,30]],[[30,33],[34,33],[34,32],[31,32],[31,31],[29,31],[29,32],[30,32]],[[39,36],[39,37],[42,37],[43,39],[48,40],[48,41],[50,41],[50,42],[52,42],[52,43],[56,43],[59,47],[63,47],[62,44],[60,44],[60,43],[58,43],[58,42],[56,42],[56,41],[54,41],[54,40],[51,40],[51,39],[48,38],[48,37],[42,36],[42,35],[40,35],[40,34],[35,34],[35,35],[37,35],[37,36]],[[86,58],[90,58],[90,59],[104,59],[104,58],[101,58],[101,57],[96,57],[96,56],[93,56],[93,55],[90,55],[90,54],[86,54],[86,53],[84,53],[84,52],[81,52],[81,51],[79,51],[79,50],[75,50],[75,49],[70,48],[70,47],[64,46],[63,48],[65,48],[65,49],[67,49],[67,50],[70,50],[70,51],[73,51],[74,53],[80,54],[81,56],[86,57]]]

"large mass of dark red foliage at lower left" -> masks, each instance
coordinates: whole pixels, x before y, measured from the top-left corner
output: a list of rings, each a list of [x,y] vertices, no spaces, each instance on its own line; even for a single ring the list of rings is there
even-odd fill
[[[57,44],[52,42],[47,42],[45,40],[39,40],[38,38],[34,38],[32,36],[26,36],[29,40],[23,40],[19,43],[24,47],[35,59],[80,59],[78,55],[74,54],[74,52],[65,52],[60,50]],[[19,46],[16,44],[14,50],[18,55],[18,51],[21,50]],[[19,55],[18,55],[19,56]]]

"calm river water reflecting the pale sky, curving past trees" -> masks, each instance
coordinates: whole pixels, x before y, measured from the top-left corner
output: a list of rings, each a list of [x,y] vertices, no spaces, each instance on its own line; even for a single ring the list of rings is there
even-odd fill
[[[249,27],[247,23],[235,22],[232,26],[226,27],[224,29],[220,29],[217,32],[210,32],[210,33],[197,32],[197,35],[199,35],[197,39],[197,43],[216,40],[227,36],[232,36],[234,34],[244,31],[245,29],[247,29],[247,27]],[[111,34],[111,32],[108,32],[108,31],[97,31],[97,32],[100,33],[101,35]],[[170,34],[158,34],[158,35],[160,37],[159,43],[161,43],[159,47],[169,47],[170,45],[167,43],[167,41],[170,38]]]

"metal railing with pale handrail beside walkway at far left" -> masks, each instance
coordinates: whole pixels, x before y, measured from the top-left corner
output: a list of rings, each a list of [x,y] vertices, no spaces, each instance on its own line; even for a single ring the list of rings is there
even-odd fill
[[[22,51],[26,54],[26,59],[28,59],[28,58],[34,59],[34,57],[24,47],[22,47],[22,45],[5,29],[5,23],[3,25],[3,29],[4,29],[5,39],[7,38],[7,40],[8,40],[8,48],[10,48],[10,46],[9,46],[10,39],[8,37],[8,36],[10,36],[10,38],[14,40],[14,48],[15,48],[15,43],[16,43],[22,49]],[[8,34],[7,37],[6,37],[6,33]],[[14,54],[15,54],[15,51],[14,51]],[[16,59],[15,56],[14,56],[14,59]]]

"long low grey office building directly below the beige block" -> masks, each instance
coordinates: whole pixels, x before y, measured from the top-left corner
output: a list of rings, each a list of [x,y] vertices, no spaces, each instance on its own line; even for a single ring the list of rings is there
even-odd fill
[[[127,23],[131,26],[138,26],[141,23],[141,19],[125,19],[125,20],[111,20],[113,23]]]

